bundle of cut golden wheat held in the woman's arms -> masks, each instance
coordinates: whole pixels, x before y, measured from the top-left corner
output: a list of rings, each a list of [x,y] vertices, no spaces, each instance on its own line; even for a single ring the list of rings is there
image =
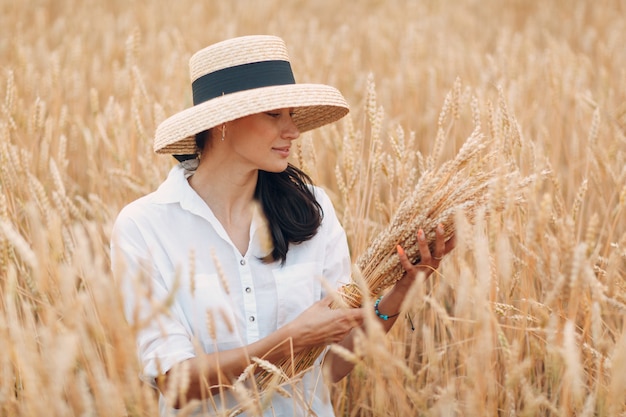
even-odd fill
[[[431,250],[435,242],[435,228],[443,224],[445,237],[455,233],[455,213],[462,211],[472,220],[477,210],[497,209],[489,190],[497,179],[510,180],[515,172],[501,175],[502,168],[495,163],[498,151],[488,149],[488,140],[478,129],[465,141],[454,159],[425,171],[413,192],[402,201],[389,224],[376,236],[361,254],[355,266],[373,298],[394,285],[404,274],[396,252],[402,246],[413,263],[420,261],[417,231],[422,229]],[[507,181],[520,185],[519,181]],[[501,187],[501,185],[500,185]],[[491,199],[491,200],[490,200]],[[356,280],[340,289],[344,305],[360,307],[364,294]],[[341,303],[335,303],[337,305]],[[306,371],[324,348],[305,350],[277,364],[280,372],[263,371],[257,378],[259,386],[285,381]]]

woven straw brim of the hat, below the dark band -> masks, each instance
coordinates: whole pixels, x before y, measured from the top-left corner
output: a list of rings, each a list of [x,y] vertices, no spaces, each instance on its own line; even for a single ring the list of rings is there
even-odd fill
[[[156,130],[154,151],[161,154],[196,153],[195,135],[241,117],[292,108],[300,132],[335,122],[349,107],[334,87],[287,84],[239,91],[200,103],[164,120]]]

